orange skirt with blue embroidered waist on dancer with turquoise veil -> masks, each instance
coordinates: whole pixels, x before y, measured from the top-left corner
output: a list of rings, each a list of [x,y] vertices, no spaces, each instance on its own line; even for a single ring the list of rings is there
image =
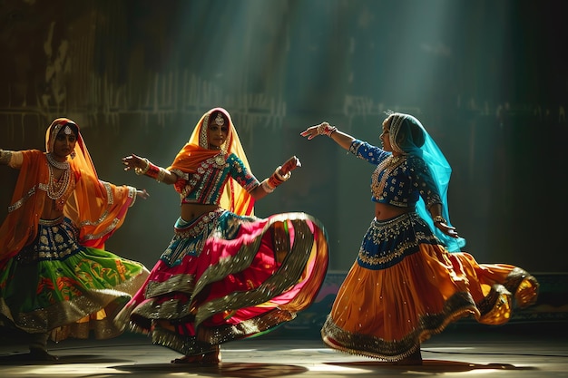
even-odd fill
[[[331,348],[395,362],[461,317],[506,323],[537,289],[519,267],[447,252],[416,213],[374,220],[321,334]]]

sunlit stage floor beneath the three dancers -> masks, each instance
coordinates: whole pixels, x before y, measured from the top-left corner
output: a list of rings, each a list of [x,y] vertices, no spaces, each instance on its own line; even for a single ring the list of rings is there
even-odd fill
[[[449,328],[422,345],[420,366],[396,366],[342,354],[317,337],[265,335],[223,344],[220,366],[170,363],[180,355],[139,334],[106,341],[66,340],[50,344],[59,356],[53,363],[24,359],[26,344],[4,338],[0,344],[0,376],[106,378],[134,377],[399,377],[443,376],[567,377],[566,323],[554,325]]]

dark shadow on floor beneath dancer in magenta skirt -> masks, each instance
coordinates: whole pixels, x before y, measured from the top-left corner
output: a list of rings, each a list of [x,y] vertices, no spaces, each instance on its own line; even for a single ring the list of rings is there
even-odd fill
[[[199,365],[192,363],[154,363],[113,366],[113,369],[135,374],[135,376],[155,373],[200,373],[221,377],[283,377],[308,372],[303,366],[280,363],[220,363],[219,365]]]

